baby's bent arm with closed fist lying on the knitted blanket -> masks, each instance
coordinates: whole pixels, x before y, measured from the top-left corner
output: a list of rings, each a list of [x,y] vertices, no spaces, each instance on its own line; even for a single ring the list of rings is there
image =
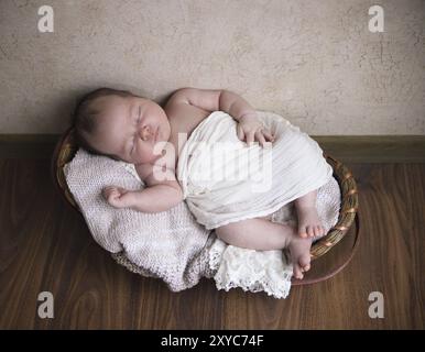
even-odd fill
[[[183,191],[171,169],[163,169],[160,180],[153,172],[154,166],[138,167],[138,173],[146,187],[142,190],[127,190],[122,187],[109,186],[102,194],[107,201],[116,208],[131,208],[141,212],[165,211],[183,201]]]

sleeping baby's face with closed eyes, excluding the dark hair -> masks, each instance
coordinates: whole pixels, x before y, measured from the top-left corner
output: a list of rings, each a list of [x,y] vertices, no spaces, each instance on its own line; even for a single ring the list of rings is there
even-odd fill
[[[171,127],[164,110],[140,97],[101,97],[94,107],[102,111],[90,144],[99,152],[124,162],[144,164],[161,156],[153,153],[155,143],[168,141]]]

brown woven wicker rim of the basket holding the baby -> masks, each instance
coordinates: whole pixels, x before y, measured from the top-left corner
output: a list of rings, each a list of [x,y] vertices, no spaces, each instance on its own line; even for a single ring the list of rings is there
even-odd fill
[[[73,160],[77,150],[78,145],[75,142],[74,130],[70,128],[63,134],[55,147],[52,160],[52,174],[54,183],[58,187],[58,190],[64,196],[65,200],[70,204],[74,209],[80,211],[74,200],[73,195],[69,191],[63,172],[63,166]],[[337,224],[330,229],[325,237],[313,244],[310,250],[312,260],[318,258],[319,256],[327,253],[345,237],[347,231],[355,222],[357,209],[359,207],[357,185],[352,173],[348,169],[347,166],[336,161],[331,156],[325,156],[326,161],[334,168],[334,176],[337,179],[341,190],[341,209]]]

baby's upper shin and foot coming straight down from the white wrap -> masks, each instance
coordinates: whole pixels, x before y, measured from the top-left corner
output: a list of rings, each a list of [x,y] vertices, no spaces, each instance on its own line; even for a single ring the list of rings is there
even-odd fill
[[[310,191],[295,200],[298,217],[298,235],[302,238],[320,237],[325,234],[316,209],[317,190]]]

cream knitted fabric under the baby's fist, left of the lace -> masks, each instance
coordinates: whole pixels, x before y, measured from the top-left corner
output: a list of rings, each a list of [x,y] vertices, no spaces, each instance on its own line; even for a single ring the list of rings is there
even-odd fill
[[[168,211],[142,213],[115,209],[101,196],[107,185],[140,189],[132,165],[78,150],[64,168],[67,184],[95,241],[111,253],[122,252],[145,274],[162,278],[172,290],[196,285],[207,262],[197,260],[209,231],[181,202]],[[135,174],[135,175],[134,175]]]

